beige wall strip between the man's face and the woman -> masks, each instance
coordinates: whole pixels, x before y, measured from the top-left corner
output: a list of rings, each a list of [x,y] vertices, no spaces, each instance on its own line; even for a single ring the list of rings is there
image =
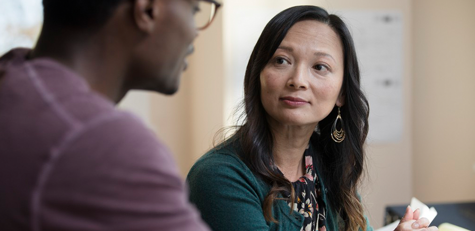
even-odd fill
[[[185,178],[191,165],[224,126],[222,12],[195,39],[195,51],[173,96],[151,94],[151,123],[168,145]]]

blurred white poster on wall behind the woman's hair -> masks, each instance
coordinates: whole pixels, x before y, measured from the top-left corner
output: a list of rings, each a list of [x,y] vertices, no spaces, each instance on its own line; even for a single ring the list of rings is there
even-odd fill
[[[370,104],[369,142],[394,143],[404,127],[403,17],[397,11],[337,11],[349,26]]]

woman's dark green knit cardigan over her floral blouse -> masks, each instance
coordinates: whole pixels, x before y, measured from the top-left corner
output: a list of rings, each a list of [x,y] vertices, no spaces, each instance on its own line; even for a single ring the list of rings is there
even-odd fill
[[[318,171],[321,192],[326,192]],[[203,220],[213,231],[300,231],[303,215],[290,213],[285,200],[276,200],[273,208],[278,224],[266,222],[262,205],[270,186],[256,177],[229,146],[204,154],[191,168],[187,182],[190,201],[201,212]],[[326,204],[327,231],[338,231],[338,219]],[[367,231],[373,231],[367,220]]]

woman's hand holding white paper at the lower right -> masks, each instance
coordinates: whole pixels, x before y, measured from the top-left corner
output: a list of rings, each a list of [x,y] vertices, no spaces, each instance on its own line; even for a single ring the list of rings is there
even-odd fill
[[[412,211],[411,206],[407,206],[406,212],[402,217],[399,225],[397,225],[394,231],[438,231],[437,227],[429,226],[429,220],[425,217],[419,219],[421,210],[416,209]]]

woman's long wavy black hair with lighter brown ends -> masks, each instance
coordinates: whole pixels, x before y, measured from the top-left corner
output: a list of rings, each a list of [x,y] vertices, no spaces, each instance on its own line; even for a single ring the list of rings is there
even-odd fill
[[[364,170],[364,143],[368,134],[368,101],[360,88],[360,71],[351,34],[345,23],[325,9],[302,5],[277,14],[266,25],[252,51],[244,77],[244,121],[238,126],[235,138],[242,152],[239,154],[247,166],[271,185],[263,205],[267,221],[277,222],[272,216],[272,206],[281,192],[291,192],[292,184],[280,174],[272,163],[274,138],[261,102],[260,73],[276,52],[289,29],[302,20],[316,20],[331,27],[341,40],[344,57],[343,95],[345,104],[341,117],[346,138],[336,143],[331,138],[332,124],[337,116],[336,107],[319,122],[319,132],[312,135],[316,147],[318,168],[329,191],[328,198],[334,210],[345,223],[345,231],[366,230],[363,207],[356,192]]]

